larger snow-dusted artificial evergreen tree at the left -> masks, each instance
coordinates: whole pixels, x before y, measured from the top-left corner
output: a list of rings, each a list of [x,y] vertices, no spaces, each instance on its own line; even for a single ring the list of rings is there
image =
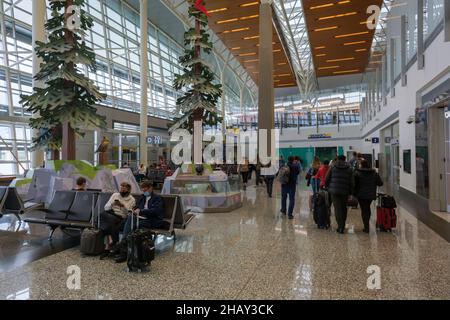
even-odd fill
[[[50,0],[49,4],[48,42],[36,42],[36,54],[43,63],[35,79],[45,82],[45,88],[33,88],[31,95],[22,96],[21,103],[29,112],[39,113],[30,119],[31,128],[39,131],[33,148],[62,148],[64,160],[75,160],[75,136],[83,136],[82,130],[87,128],[106,128],[105,117],[95,108],[106,95],[82,69],[86,66],[96,71],[95,53],[83,41],[93,26],[83,10],[85,0]]]

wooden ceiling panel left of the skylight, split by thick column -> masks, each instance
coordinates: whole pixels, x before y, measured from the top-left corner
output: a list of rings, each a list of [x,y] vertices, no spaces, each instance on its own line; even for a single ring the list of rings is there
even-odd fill
[[[259,1],[206,1],[206,9],[210,12],[210,28],[258,84]],[[297,85],[295,76],[275,28],[273,42],[274,86],[294,87]]]

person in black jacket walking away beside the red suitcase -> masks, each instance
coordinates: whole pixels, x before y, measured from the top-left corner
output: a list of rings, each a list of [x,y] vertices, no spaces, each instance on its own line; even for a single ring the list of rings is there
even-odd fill
[[[377,199],[377,187],[383,185],[379,174],[370,168],[368,161],[361,161],[360,168],[355,171],[355,196],[361,206],[361,215],[364,223],[364,232],[370,232],[370,206]]]

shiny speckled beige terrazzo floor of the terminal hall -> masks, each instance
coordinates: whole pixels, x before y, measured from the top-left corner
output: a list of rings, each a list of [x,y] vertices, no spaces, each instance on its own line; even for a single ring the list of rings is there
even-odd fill
[[[198,215],[175,243],[160,238],[146,273],[81,257],[78,248],[0,272],[0,299],[450,299],[450,243],[406,210],[395,233],[370,235],[353,210],[348,234],[339,235],[317,230],[309,194],[298,194],[288,220],[279,191],[269,199],[249,187],[240,210]],[[80,267],[80,290],[67,288],[71,265]],[[379,290],[367,288],[373,265]]]

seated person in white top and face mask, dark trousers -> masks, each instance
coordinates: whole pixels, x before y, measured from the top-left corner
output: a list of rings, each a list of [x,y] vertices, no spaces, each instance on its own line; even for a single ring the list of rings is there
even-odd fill
[[[105,213],[100,218],[100,229],[108,236],[105,252],[101,259],[109,256],[113,246],[119,242],[120,229],[123,228],[128,212],[136,205],[136,200],[131,195],[131,185],[123,182],[120,192],[114,193],[105,205]]]

